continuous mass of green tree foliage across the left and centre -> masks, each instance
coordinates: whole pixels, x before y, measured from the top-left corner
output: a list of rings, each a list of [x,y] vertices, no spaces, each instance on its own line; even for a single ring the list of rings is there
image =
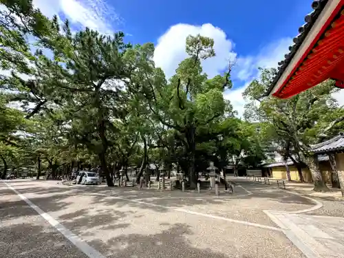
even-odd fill
[[[153,43],[131,45],[122,32],[88,28],[72,34],[68,21],[47,19],[32,1],[0,3],[6,166],[34,162],[53,177],[75,164],[101,166],[112,186],[111,173],[132,164],[141,174],[147,162],[169,170],[178,163],[195,186],[210,160],[225,166],[244,153],[247,166],[261,161],[255,131],[223,98],[232,65],[214,78],[202,70],[215,56],[213,39],[188,36],[189,56],[166,78],[153,62]]]

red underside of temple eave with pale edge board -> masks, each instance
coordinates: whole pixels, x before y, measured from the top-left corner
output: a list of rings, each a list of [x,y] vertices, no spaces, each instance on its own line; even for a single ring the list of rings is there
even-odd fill
[[[329,0],[272,88],[290,98],[332,78],[344,88],[344,0]]]

